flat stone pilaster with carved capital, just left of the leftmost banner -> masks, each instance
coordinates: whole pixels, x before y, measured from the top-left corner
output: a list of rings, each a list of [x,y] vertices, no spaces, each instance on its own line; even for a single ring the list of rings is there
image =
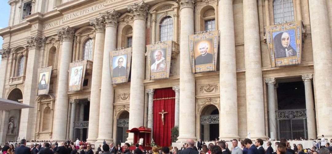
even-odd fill
[[[25,86],[23,93],[23,103],[31,106],[36,106],[37,88],[38,88],[38,68],[39,68],[39,54],[44,48],[46,38],[33,36],[27,40],[29,55],[27,62],[27,74],[25,77]],[[37,107],[36,108],[24,108],[21,112],[19,137],[22,139],[25,137],[27,140],[34,139],[36,122]],[[67,117],[67,116],[66,116]]]

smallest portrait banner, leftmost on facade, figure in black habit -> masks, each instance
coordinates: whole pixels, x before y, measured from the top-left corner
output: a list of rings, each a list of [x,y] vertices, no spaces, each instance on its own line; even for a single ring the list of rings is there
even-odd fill
[[[47,95],[49,90],[49,80],[51,78],[52,66],[38,69],[38,95]]]

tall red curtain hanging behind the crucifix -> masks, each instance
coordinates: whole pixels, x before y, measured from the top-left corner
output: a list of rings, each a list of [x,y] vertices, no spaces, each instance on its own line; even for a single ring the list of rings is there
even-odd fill
[[[164,114],[164,125],[159,112]],[[153,95],[153,140],[158,146],[171,145],[171,129],[174,127],[175,92],[172,88],[154,90]]]

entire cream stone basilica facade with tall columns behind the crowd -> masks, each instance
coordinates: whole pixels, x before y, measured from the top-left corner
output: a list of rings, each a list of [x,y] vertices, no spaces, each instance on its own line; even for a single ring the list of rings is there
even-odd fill
[[[174,126],[177,142],[332,138],[330,0],[8,4],[9,26],[0,30],[0,96],[34,108],[1,111],[0,143],[23,138],[131,143],[137,141],[126,130],[140,126],[151,128],[158,145],[172,142]],[[296,35],[280,34],[285,56],[271,54],[278,48],[269,44],[277,44],[278,35],[270,36],[269,27],[284,30],[291,23],[299,23]],[[193,73],[189,36],[211,31],[219,36],[212,51],[215,71]],[[146,45],[166,41],[171,44],[169,74],[154,79],[149,64],[160,67],[160,58],[156,54],[150,62]],[[128,77],[112,84],[109,53],[123,49],[131,49],[131,59],[114,64],[126,63]],[[284,60],[278,58],[292,56],[297,59],[289,62],[298,63],[279,66]],[[71,73],[71,64],[82,61],[85,71]],[[51,69],[45,79],[39,73],[46,67]],[[77,74],[82,80],[73,79]],[[40,93],[45,83],[47,92]],[[79,90],[71,91],[73,85]]]

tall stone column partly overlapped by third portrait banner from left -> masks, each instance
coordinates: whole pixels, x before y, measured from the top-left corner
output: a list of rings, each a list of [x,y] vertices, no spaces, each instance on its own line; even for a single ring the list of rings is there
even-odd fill
[[[113,141],[113,101],[114,101],[114,88],[112,85],[112,78],[110,73],[110,52],[116,49],[117,43],[117,27],[119,13],[114,9],[106,11],[102,14],[105,19],[105,44],[104,44],[104,59],[103,59],[103,72],[102,72],[102,85],[100,94],[100,117],[99,118],[99,133],[97,142],[107,143]]]

